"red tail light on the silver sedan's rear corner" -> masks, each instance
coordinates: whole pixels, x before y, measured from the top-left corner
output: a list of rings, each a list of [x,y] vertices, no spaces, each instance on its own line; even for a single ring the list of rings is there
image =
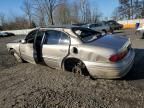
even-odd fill
[[[109,58],[109,60],[111,62],[118,62],[118,61],[122,60],[127,55],[127,52],[128,51],[124,51],[124,52],[121,52],[118,54],[114,54]]]

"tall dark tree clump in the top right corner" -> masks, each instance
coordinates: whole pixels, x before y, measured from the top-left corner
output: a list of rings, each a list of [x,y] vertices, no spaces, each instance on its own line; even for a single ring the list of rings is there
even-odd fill
[[[120,19],[144,17],[144,0],[119,0],[119,3],[117,9]]]

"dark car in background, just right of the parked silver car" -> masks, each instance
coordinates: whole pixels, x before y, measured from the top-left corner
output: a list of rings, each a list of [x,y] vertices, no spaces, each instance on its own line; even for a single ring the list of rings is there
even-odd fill
[[[122,24],[119,24],[118,22],[114,20],[109,20],[106,22],[113,30],[120,30],[123,28]]]

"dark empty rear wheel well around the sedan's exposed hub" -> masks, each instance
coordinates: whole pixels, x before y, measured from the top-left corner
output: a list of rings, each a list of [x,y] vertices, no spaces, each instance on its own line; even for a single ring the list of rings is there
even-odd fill
[[[66,71],[72,72],[72,69],[78,63],[82,63],[83,66],[84,66],[82,74],[88,76],[89,72],[88,72],[85,64],[81,60],[79,60],[77,58],[67,58],[66,60],[64,60],[64,62],[63,62],[63,69],[66,70]]]

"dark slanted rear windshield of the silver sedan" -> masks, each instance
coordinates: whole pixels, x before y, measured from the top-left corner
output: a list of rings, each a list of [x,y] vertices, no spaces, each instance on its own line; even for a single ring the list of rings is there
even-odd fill
[[[91,42],[98,39],[101,36],[100,32],[87,29],[87,28],[73,28],[72,31],[83,41]]]

